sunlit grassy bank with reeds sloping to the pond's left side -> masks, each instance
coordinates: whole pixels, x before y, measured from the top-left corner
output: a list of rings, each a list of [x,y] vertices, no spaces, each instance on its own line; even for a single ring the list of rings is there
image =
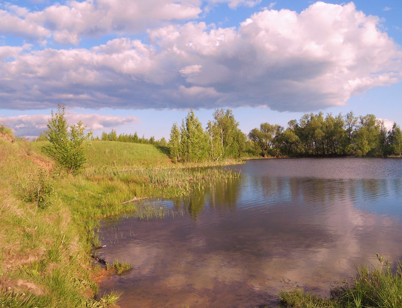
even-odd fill
[[[104,141],[91,142],[86,171],[72,176],[41,153],[43,142],[10,133],[0,136],[0,306],[5,307],[113,306],[116,294],[95,297],[98,269],[90,255],[99,244],[94,228],[100,219],[127,211],[144,215],[138,203],[124,203],[135,197],[180,197],[238,176],[202,168],[213,163],[171,164],[166,148]]]

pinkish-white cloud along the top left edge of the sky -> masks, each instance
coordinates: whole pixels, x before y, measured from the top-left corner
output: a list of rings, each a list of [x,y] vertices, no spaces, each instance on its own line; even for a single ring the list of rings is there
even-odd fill
[[[166,21],[197,18],[199,0],[86,0],[53,4],[42,11],[6,5],[0,10],[0,33],[49,38],[77,45],[83,36],[141,33]]]

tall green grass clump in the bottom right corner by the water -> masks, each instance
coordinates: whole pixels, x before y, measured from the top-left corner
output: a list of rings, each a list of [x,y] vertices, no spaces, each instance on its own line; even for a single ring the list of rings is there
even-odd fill
[[[402,307],[402,264],[392,271],[390,261],[377,254],[379,264],[369,268],[357,267],[351,282],[332,287],[331,298],[318,298],[314,294],[296,289],[281,291],[279,299],[289,308],[396,308]]]

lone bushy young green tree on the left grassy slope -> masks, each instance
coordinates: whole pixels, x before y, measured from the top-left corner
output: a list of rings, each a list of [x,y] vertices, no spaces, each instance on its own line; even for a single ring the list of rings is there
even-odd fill
[[[82,171],[88,159],[82,143],[92,135],[92,131],[84,134],[86,126],[82,126],[81,121],[68,125],[65,108],[59,104],[55,113],[51,111],[48,130],[45,131],[50,144],[43,146],[42,149],[69,173],[78,173]]]

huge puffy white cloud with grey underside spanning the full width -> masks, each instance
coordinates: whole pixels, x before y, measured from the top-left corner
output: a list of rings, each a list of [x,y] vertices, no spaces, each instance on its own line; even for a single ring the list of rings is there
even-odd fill
[[[80,12],[92,12],[95,5],[68,3],[52,9],[83,6]],[[180,17],[171,14],[164,16]],[[68,16],[54,17],[55,29],[68,29]],[[10,49],[4,53],[12,56],[0,61],[0,101],[6,109],[59,102],[87,108],[324,109],[402,77],[402,53],[378,25],[379,18],[353,3],[317,2],[299,14],[266,8],[238,29],[203,22],[166,25],[148,31],[148,44],[119,38],[91,49]],[[78,32],[61,33],[60,40],[74,41],[69,35]]]

